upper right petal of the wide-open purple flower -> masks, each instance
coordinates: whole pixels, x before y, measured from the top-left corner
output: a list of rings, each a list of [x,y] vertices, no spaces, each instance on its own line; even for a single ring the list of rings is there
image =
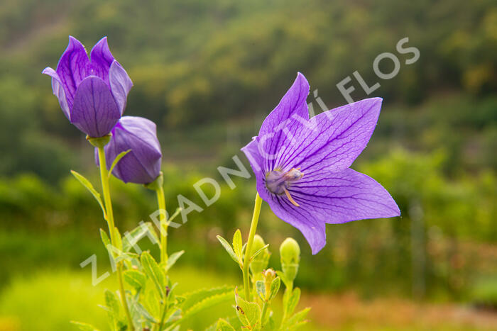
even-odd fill
[[[350,103],[311,118],[286,146],[280,146],[275,167],[300,168],[304,174],[338,172],[361,154],[376,127],[381,98]]]

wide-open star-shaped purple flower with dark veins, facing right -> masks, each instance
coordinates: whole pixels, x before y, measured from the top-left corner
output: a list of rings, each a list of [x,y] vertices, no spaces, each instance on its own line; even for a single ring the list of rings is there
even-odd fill
[[[366,99],[309,118],[309,84],[302,74],[242,148],[256,174],[257,191],[282,220],[319,252],[326,223],[400,215],[374,179],[350,169],[371,138],[380,98]]]

